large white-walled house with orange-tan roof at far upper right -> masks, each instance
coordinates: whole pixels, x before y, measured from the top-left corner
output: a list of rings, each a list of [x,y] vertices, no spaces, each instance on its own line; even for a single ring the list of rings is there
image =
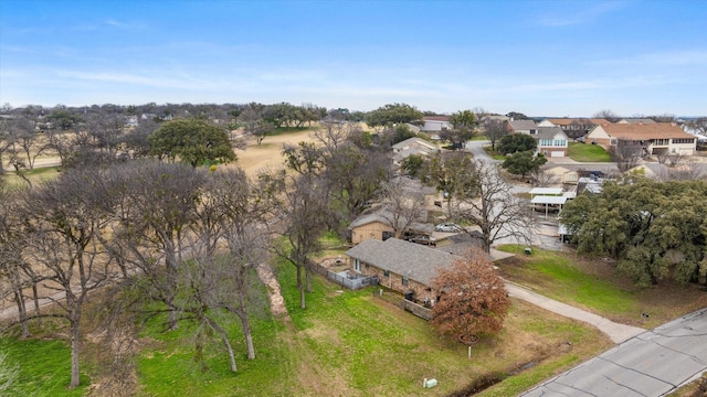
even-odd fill
[[[587,135],[587,141],[610,151],[631,151],[641,157],[693,155],[697,148],[695,136],[667,122],[599,125]]]

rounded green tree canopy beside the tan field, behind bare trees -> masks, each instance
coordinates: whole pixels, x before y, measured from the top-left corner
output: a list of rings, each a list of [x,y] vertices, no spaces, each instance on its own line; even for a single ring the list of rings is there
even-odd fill
[[[165,122],[148,140],[152,155],[172,161],[178,158],[193,168],[207,161],[236,160],[228,133],[202,119]]]

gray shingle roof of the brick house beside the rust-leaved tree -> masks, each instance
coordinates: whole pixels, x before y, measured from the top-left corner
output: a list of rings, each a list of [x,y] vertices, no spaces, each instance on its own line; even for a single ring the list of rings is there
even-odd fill
[[[346,255],[379,269],[408,276],[411,280],[425,286],[431,285],[436,276],[436,269],[447,268],[455,259],[461,258],[397,238],[384,242],[367,239],[346,251]]]

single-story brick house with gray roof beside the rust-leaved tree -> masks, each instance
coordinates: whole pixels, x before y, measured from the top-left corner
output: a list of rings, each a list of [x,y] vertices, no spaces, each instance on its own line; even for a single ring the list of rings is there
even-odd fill
[[[388,238],[367,239],[346,251],[354,271],[378,277],[381,286],[405,294],[418,302],[434,304],[440,292],[432,288],[439,269],[446,269],[462,259],[419,244]]]

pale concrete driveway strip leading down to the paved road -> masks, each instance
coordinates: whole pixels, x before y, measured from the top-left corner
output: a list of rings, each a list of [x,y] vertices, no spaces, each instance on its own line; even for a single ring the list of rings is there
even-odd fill
[[[508,294],[513,298],[521,299],[528,303],[535,304],[566,318],[591,324],[598,328],[599,331],[605,333],[614,343],[627,341],[639,334],[646,332],[646,330],[644,329],[619,324],[601,315],[597,315],[585,310],[558,302],[513,282],[506,281],[506,289],[508,290]]]

